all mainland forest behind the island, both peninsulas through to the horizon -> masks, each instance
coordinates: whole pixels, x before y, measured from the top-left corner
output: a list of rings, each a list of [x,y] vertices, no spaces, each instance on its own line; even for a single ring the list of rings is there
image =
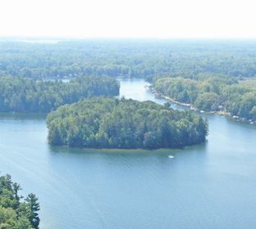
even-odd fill
[[[0,42],[1,75],[1,111],[50,111],[79,97],[114,96],[117,82],[100,78],[123,77],[144,78],[153,90],[199,110],[256,120],[253,40],[5,40]],[[45,82],[84,76],[104,85],[95,92],[85,87],[89,81]]]

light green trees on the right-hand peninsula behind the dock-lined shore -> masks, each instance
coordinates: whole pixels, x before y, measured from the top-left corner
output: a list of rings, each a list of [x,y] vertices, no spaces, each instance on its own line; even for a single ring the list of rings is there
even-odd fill
[[[256,120],[256,80],[203,75],[198,79],[156,78],[153,88],[168,97],[190,103],[199,110],[226,111]]]

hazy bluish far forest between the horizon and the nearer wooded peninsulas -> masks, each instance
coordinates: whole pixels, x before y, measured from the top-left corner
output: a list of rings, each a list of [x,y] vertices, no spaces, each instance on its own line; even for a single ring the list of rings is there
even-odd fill
[[[82,75],[196,78],[256,76],[254,41],[61,40],[0,43],[0,75],[61,79]]]

